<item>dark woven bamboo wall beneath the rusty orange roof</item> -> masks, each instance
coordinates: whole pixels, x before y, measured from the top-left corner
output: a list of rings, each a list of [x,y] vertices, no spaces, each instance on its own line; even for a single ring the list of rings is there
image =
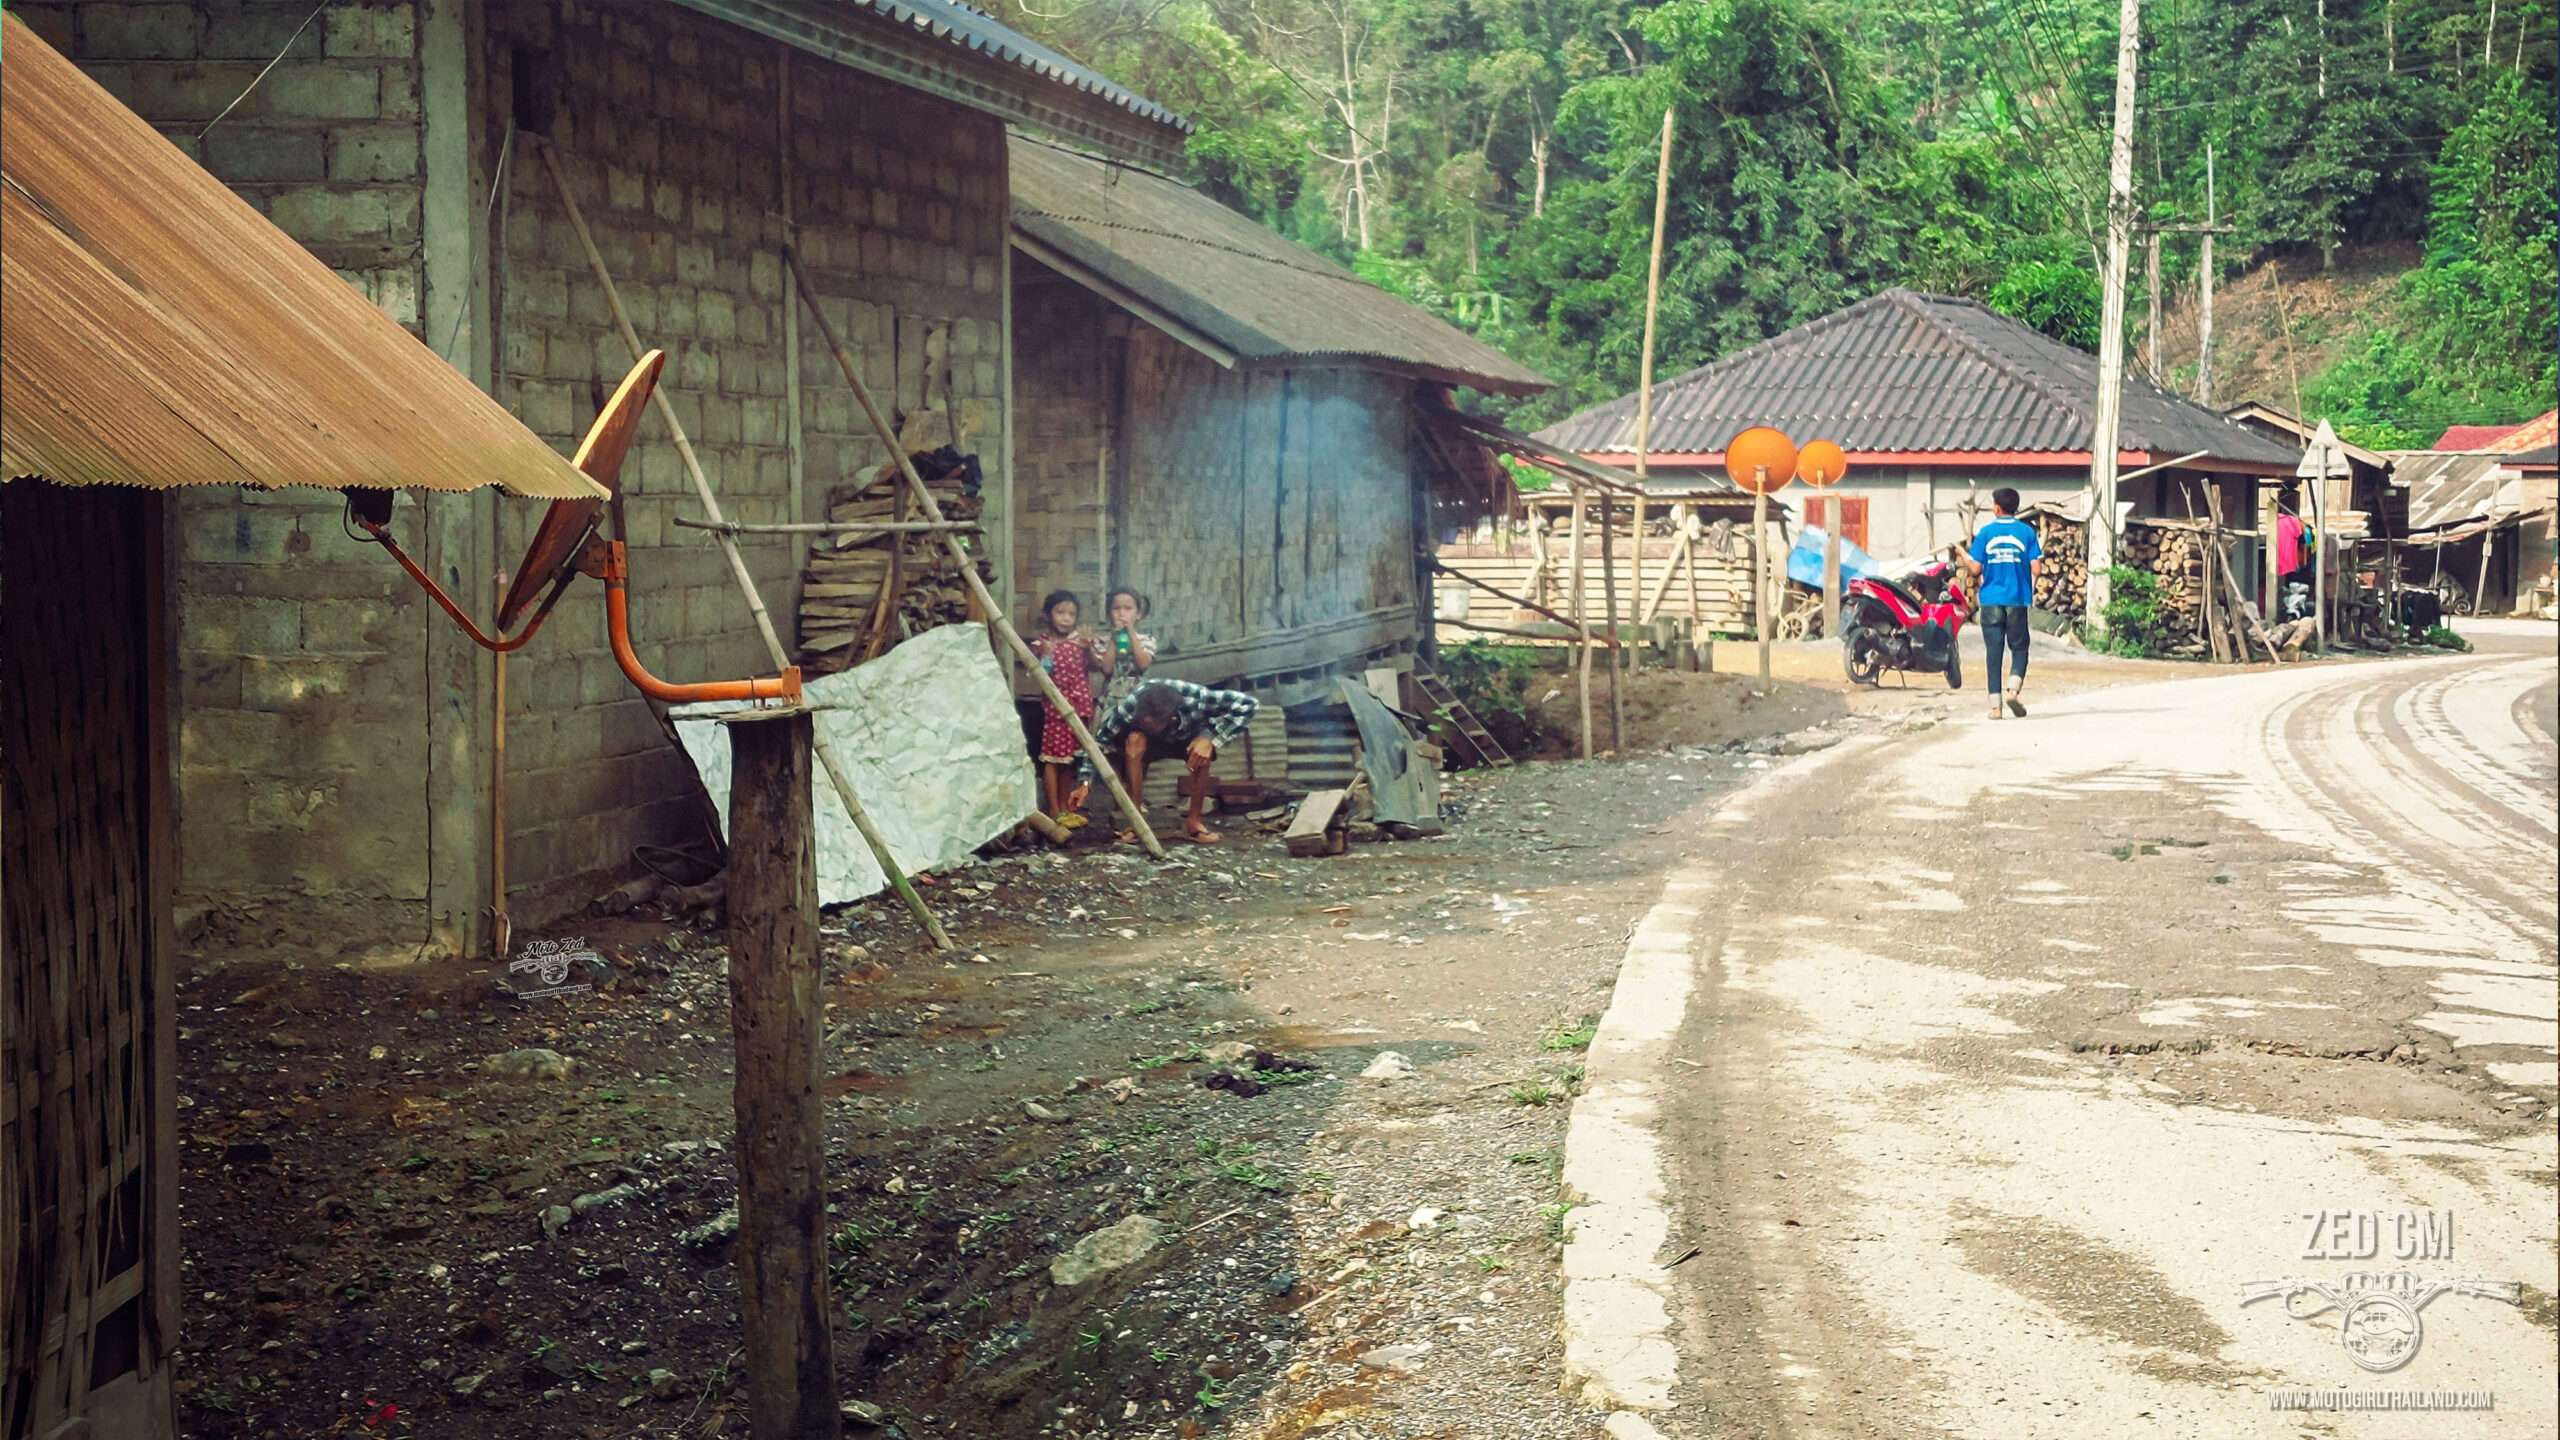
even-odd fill
[[[169,1435],[166,669],[146,489],[0,487],[0,1435]],[[64,1430],[74,1422],[87,1430]]]

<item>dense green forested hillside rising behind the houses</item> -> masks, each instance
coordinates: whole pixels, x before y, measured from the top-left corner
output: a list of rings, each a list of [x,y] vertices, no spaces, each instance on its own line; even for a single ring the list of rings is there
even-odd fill
[[[1636,382],[1664,108],[1661,374],[1887,284],[2097,341],[2104,0],[1009,0],[1004,15],[1193,118],[1188,179],[1562,379],[1523,423]],[[2360,305],[2319,305],[2291,361],[2314,356],[2307,405],[2396,430],[2373,438],[2545,410],[2555,36],[2552,0],[2150,0],[2138,215],[2202,223],[2209,200],[2230,225],[2225,279],[2353,290]],[[2194,277],[2194,236],[2171,233],[2168,359],[2189,374],[2176,325]],[[2217,369],[2255,379],[2232,359]]]

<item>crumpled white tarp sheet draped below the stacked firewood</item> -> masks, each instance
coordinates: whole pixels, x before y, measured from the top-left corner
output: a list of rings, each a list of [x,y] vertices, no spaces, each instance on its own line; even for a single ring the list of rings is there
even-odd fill
[[[1014,689],[986,625],[940,625],[804,689],[852,792],[906,874],[957,863],[1039,807]],[[673,712],[684,753],[694,756],[719,810],[722,835],[730,830],[730,735],[712,715],[727,710],[735,707],[681,705]],[[819,904],[888,889],[827,771],[812,758],[809,774]]]

